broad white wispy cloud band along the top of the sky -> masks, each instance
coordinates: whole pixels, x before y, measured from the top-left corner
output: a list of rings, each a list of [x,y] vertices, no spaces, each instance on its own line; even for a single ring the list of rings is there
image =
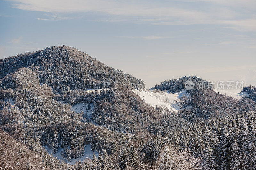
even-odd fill
[[[225,25],[239,31],[256,31],[255,8],[253,0],[243,2],[202,0],[194,1],[191,8],[179,4],[179,1],[114,1],[114,0],[10,0],[13,8],[29,11],[59,13],[50,18],[37,18],[44,21],[72,19],[61,17],[63,14],[93,12],[104,16],[104,21],[120,22],[127,19],[132,22],[146,22],[154,25]],[[189,0],[188,0],[189,1]],[[197,8],[196,6],[200,6]],[[106,18],[107,16],[107,18]],[[117,16],[117,17],[116,17]],[[242,19],[241,19],[242,18]],[[99,18],[100,21],[103,19]]]

